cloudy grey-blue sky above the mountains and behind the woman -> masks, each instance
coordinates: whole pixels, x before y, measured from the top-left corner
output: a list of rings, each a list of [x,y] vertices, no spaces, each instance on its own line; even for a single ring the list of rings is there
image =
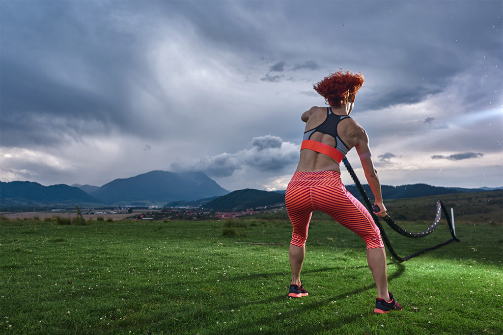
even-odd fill
[[[343,68],[365,76],[352,117],[382,184],[503,185],[499,0],[2,0],[0,16],[2,181],[192,170],[285,189],[300,115],[324,105],[312,85]]]

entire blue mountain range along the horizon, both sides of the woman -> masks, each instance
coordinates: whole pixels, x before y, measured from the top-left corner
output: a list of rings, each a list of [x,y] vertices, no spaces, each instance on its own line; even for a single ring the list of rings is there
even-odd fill
[[[368,185],[363,185],[372,198]],[[346,188],[357,198],[355,185]],[[413,198],[428,195],[481,192],[489,188],[437,187],[427,184],[401,186],[381,185],[384,199]],[[491,188],[498,189],[498,188]],[[59,184],[43,186],[30,181],[0,182],[0,210],[54,208],[165,205],[204,206],[215,210],[240,210],[284,201],[285,191],[253,189],[229,191],[201,172],[174,173],[150,171],[130,178],[115,179],[101,187]]]

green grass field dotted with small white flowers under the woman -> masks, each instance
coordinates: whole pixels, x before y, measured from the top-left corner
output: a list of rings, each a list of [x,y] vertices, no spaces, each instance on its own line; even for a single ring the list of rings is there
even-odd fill
[[[287,299],[284,219],[0,222],[0,332],[190,334],[482,334],[503,329],[502,227],[456,226],[461,240],[404,263],[389,260],[401,312],[374,314],[365,244],[322,216],[309,229],[302,280]],[[427,222],[407,229],[422,231]],[[385,226],[400,256],[421,240]],[[228,227],[224,227],[228,226]],[[229,227],[230,226],[230,227]],[[235,236],[222,236],[225,228]],[[267,246],[250,243],[284,243]]]

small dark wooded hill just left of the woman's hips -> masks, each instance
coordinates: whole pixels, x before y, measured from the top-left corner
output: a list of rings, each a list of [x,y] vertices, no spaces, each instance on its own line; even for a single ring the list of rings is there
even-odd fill
[[[237,211],[246,208],[272,205],[279,202],[285,202],[284,194],[246,188],[218,197],[208,202],[203,207],[214,210]]]

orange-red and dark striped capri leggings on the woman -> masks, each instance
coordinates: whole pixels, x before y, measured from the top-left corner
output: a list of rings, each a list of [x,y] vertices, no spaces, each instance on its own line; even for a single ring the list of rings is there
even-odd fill
[[[290,244],[296,247],[305,247],[311,214],[319,210],[358,234],[367,249],[384,248],[372,216],[346,190],[336,171],[295,172],[288,184],[285,202],[293,226]]]

